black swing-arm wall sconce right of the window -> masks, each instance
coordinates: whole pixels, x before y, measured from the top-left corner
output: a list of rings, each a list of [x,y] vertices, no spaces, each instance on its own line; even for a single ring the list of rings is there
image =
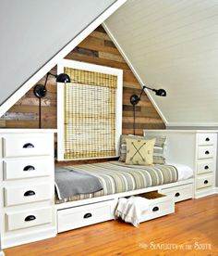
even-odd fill
[[[130,103],[133,106],[133,132],[134,132],[134,135],[136,134],[136,105],[139,103],[140,97],[142,96],[145,89],[151,90],[152,92],[155,93],[156,96],[166,96],[166,91],[165,90],[163,90],[163,89],[158,89],[158,90],[157,89],[152,89],[152,88],[150,88],[148,86],[145,86],[145,85],[143,85],[139,96],[137,96],[137,95],[130,96]]]

